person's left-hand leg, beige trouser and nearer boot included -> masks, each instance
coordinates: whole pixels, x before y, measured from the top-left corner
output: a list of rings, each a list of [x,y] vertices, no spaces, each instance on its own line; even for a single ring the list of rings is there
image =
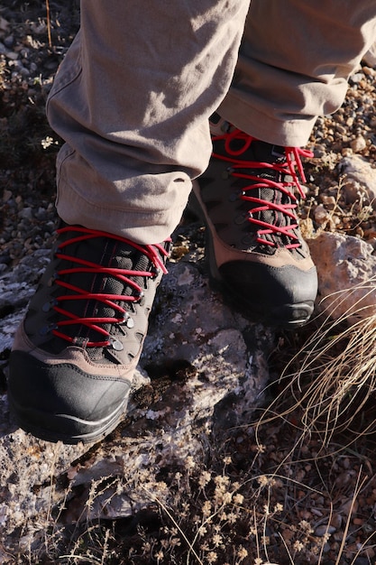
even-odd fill
[[[82,0],[48,103],[66,141],[63,224],[10,358],[9,400],[26,431],[92,441],[119,420],[246,13],[238,0]]]

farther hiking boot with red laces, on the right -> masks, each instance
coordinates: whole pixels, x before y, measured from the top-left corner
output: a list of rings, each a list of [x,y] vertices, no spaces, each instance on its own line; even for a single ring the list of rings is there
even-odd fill
[[[317,292],[296,196],[304,196],[300,181],[306,181],[300,157],[312,153],[267,144],[216,122],[211,162],[194,183],[211,279],[247,314],[272,325],[301,325]]]

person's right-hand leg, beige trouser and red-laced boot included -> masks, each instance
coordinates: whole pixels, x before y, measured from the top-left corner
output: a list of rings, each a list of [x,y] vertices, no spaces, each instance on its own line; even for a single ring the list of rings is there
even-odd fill
[[[375,23],[371,0],[252,0],[214,155],[195,193],[212,277],[271,323],[293,327],[313,310],[316,269],[296,213],[307,152],[298,146],[316,116],[342,104]]]

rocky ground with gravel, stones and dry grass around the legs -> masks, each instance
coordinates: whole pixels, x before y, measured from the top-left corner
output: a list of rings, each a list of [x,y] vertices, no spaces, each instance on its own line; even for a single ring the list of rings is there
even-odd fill
[[[76,0],[0,3],[0,562],[374,563],[371,58],[310,140],[316,319],[288,334],[229,310],[187,213],[115,433],[72,448],[14,426],[9,349],[56,219],[44,102],[78,17]]]

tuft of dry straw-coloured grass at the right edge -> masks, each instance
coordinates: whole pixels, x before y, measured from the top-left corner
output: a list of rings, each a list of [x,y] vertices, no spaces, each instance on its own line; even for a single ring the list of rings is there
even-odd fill
[[[336,308],[341,309],[344,296],[359,290],[356,287],[328,297],[331,316],[324,311],[314,320],[317,328],[283,369],[280,393],[262,414],[259,426],[272,421],[273,413],[289,418],[298,411],[301,438],[316,433],[325,448],[335,433],[350,431],[353,421],[362,419],[376,390],[376,313],[364,317],[369,307],[356,310],[355,305],[337,320],[332,318]],[[363,296],[368,292],[374,292],[371,282],[363,288]],[[370,431],[372,425],[371,421]],[[365,433],[367,430],[362,431]]]

